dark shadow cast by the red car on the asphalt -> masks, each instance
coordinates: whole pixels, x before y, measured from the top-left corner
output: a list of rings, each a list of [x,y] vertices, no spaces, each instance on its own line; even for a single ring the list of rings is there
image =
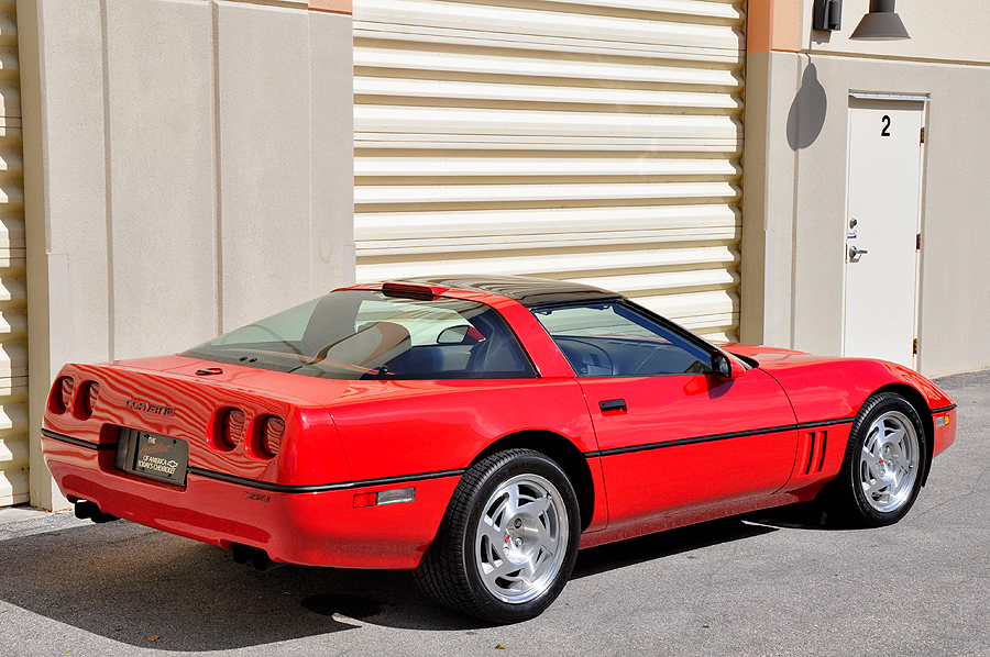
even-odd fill
[[[582,550],[572,577],[802,526],[773,525],[774,516],[796,519],[801,511],[761,512],[758,524],[754,515],[735,516]],[[355,620],[406,630],[486,626],[427,600],[408,571],[285,566],[258,572],[218,547],[124,521],[3,541],[0,591],[2,602],[59,623],[166,652],[344,632],[361,626]]]

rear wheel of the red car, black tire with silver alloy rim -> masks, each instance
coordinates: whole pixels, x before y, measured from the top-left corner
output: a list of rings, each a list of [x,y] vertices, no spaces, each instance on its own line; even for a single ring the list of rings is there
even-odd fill
[[[580,535],[578,495],[560,466],[531,449],[499,452],[464,472],[414,577],[455,611],[527,621],[563,590]]]

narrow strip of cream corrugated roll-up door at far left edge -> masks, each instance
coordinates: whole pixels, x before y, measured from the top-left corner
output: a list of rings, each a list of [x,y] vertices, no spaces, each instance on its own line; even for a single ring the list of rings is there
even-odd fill
[[[28,287],[16,3],[0,0],[0,505],[28,501]]]

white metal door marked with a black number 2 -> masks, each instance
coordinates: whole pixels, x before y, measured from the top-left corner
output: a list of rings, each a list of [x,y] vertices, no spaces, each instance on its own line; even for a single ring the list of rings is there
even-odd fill
[[[850,101],[846,356],[914,366],[924,110]]]

